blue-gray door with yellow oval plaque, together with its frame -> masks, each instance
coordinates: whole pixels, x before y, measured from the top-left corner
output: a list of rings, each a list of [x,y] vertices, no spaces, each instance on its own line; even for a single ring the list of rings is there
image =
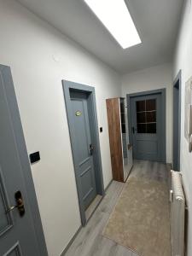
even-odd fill
[[[96,95],[94,87],[88,85],[77,84],[67,80],[62,80],[62,85],[67,108],[67,121],[72,145],[74,172],[79,197],[80,217],[81,223],[84,225],[87,221],[87,216],[85,214],[86,207],[89,206],[90,202],[97,194],[105,195],[96,114]],[[77,112],[77,109],[74,108],[73,110],[73,100],[83,101],[84,103],[81,103],[81,108],[86,109],[85,112],[88,112],[88,114],[83,113],[83,117],[82,113],[76,115],[75,113]],[[81,133],[78,131],[79,123],[74,125],[75,117],[83,118],[85,120],[85,127],[84,125],[82,127],[84,131],[88,131],[86,133],[87,137],[84,137],[84,141],[87,141],[88,143],[87,145],[83,143],[84,148],[82,150],[84,151],[84,157],[81,158],[79,157],[79,151],[81,150],[82,142],[80,139],[76,140],[76,133],[80,134],[78,137],[81,137]],[[76,119],[76,121],[77,120],[78,119]],[[92,143],[94,146],[92,155],[90,154],[89,143]],[[92,166],[94,166],[94,168]]]

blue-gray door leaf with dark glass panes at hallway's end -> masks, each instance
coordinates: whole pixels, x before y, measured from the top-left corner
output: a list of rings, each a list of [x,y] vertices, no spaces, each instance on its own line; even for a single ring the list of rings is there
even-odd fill
[[[133,156],[141,160],[162,160],[163,117],[160,94],[131,98]]]

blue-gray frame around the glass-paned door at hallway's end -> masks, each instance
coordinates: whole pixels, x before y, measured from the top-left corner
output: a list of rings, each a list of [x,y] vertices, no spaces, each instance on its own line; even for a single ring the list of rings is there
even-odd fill
[[[131,98],[137,97],[137,96],[150,96],[154,94],[160,94],[161,100],[162,100],[162,113],[165,118],[162,120],[162,137],[164,138],[162,140],[162,148],[163,153],[161,157],[161,161],[166,163],[166,88],[158,89],[158,90],[145,90],[141,92],[131,93],[126,95],[127,100],[127,118],[128,118],[128,128],[129,128],[129,141],[132,144],[133,143],[133,137],[131,132]]]

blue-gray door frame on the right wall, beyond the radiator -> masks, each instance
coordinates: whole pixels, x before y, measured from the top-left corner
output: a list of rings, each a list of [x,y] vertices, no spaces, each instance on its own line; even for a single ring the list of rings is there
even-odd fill
[[[178,83],[178,88],[177,88],[177,83]],[[176,92],[178,93],[178,101],[177,101],[177,96]],[[176,163],[174,162],[174,144],[177,143],[177,170],[175,171],[180,171],[180,144],[181,144],[181,93],[182,93],[182,71],[179,70],[177,73],[177,77],[173,81],[173,125],[172,125],[172,135],[173,135],[173,140],[172,140],[172,167],[173,169],[176,169]],[[178,113],[174,111],[174,106],[175,104],[178,104]],[[177,134],[175,134],[175,117],[177,114]]]

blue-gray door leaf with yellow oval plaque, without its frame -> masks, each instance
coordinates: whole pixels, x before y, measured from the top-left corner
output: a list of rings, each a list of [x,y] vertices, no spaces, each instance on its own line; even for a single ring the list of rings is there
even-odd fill
[[[90,121],[87,95],[83,92],[70,92],[73,110],[73,137],[75,154],[73,154],[79,193],[84,201],[84,209],[90,206],[96,197],[96,177],[93,165],[94,145],[90,139]]]

